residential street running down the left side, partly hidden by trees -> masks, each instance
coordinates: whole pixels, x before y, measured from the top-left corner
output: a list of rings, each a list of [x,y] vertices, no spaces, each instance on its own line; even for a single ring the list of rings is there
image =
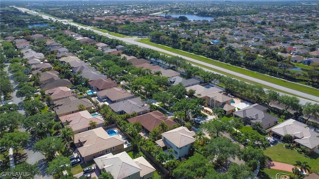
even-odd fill
[[[13,81],[12,73],[8,72],[8,67],[10,64],[7,63],[5,65],[6,65],[6,67],[4,68],[4,71],[6,71],[8,73],[8,76],[10,77],[10,82],[11,82],[11,84],[13,84],[13,88],[14,88],[14,91],[11,93],[12,103],[17,104],[19,106],[18,112],[20,114],[25,115],[25,112],[21,106],[21,102],[23,101],[23,98],[15,96],[18,88],[16,87],[17,84],[14,83],[14,81]],[[24,132],[25,129],[20,128],[19,131]],[[34,176],[34,179],[53,179],[52,176],[48,176],[45,173],[45,170],[47,168],[47,162],[46,162],[45,156],[39,152],[33,152],[33,145],[34,145],[35,141],[36,141],[36,139],[34,139],[34,137],[31,137],[30,142],[24,148],[24,153],[26,153],[26,156],[27,156],[26,163],[35,164],[38,162],[38,166],[39,166],[38,168],[40,170],[41,176],[36,175],[36,176]]]

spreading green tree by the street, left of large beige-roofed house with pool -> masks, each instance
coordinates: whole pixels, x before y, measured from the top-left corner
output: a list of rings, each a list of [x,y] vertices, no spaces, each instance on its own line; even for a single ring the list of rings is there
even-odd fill
[[[36,152],[41,152],[51,161],[56,152],[61,151],[64,148],[64,143],[61,138],[57,137],[47,137],[39,140],[33,146],[33,150]]]

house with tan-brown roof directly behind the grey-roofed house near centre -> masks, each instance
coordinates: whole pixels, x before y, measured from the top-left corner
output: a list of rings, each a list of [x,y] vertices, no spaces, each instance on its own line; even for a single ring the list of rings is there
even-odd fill
[[[119,87],[104,89],[98,91],[96,94],[100,99],[110,99],[112,102],[119,102],[134,97],[134,94]]]

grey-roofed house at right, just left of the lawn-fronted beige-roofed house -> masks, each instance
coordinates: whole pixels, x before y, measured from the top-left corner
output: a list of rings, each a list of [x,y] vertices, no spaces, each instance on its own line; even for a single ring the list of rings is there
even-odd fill
[[[240,117],[245,123],[252,125],[255,122],[261,122],[263,129],[268,129],[278,124],[278,117],[268,114],[267,107],[255,103],[233,112],[234,117]]]

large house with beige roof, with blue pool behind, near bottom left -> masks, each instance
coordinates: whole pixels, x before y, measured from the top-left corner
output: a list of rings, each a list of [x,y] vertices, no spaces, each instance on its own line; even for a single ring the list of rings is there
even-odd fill
[[[75,134],[73,142],[84,162],[124,149],[124,140],[119,135],[110,136],[102,127]]]

